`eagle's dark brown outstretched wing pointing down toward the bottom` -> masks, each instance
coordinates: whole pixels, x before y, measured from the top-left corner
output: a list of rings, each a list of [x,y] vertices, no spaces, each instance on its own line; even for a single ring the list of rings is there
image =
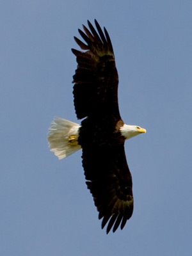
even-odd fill
[[[83,168],[102,228],[108,223],[107,234],[112,227],[113,232],[119,225],[124,228],[133,211],[132,178],[124,145],[83,148]]]

